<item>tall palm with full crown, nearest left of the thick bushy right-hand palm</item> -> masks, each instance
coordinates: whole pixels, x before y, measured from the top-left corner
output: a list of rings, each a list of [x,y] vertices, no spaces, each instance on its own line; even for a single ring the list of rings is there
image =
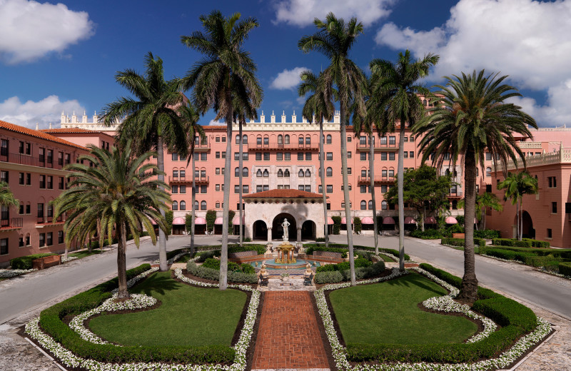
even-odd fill
[[[395,132],[399,125],[400,136],[398,139],[398,251],[399,268],[405,269],[405,204],[403,198],[404,179],[404,147],[405,130],[408,123],[413,128],[420,118],[424,116],[424,106],[420,96],[430,95],[425,86],[418,83],[420,78],[428,75],[431,66],[438,63],[439,56],[427,54],[423,59],[412,61],[410,51],[398,54],[396,63],[381,59],[373,59],[369,66],[371,69],[372,83],[371,95],[383,97],[378,106],[384,109],[386,125],[385,132]]]

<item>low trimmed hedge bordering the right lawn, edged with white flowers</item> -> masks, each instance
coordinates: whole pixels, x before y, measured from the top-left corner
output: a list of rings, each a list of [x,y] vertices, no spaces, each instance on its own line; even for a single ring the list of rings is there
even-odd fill
[[[460,285],[462,280],[432,265],[421,264],[438,278],[451,285]],[[480,358],[493,357],[505,350],[521,335],[537,326],[537,317],[529,308],[515,300],[478,288],[478,298],[473,310],[482,313],[502,325],[499,330],[479,342],[464,344],[355,344],[347,345],[348,360],[353,362],[475,362]]]

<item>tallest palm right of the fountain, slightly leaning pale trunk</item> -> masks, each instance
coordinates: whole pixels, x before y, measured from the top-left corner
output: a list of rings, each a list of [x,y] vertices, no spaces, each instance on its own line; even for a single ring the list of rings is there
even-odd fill
[[[304,53],[319,51],[330,59],[330,65],[323,71],[323,84],[331,90],[333,84],[337,86],[340,106],[341,131],[341,169],[343,173],[343,199],[345,201],[345,220],[351,223],[350,198],[347,175],[347,130],[348,108],[353,104],[361,113],[363,108],[363,94],[366,89],[366,78],[361,69],[349,59],[351,46],[357,37],[363,33],[363,24],[356,18],[351,18],[348,24],[338,19],[333,13],[325,17],[325,21],[314,19],[313,24],[318,31],[311,36],[303,36],[298,41],[298,48]],[[349,265],[351,271],[351,285],[356,285],[355,261],[353,257],[353,235],[347,230],[347,243],[349,245]]]

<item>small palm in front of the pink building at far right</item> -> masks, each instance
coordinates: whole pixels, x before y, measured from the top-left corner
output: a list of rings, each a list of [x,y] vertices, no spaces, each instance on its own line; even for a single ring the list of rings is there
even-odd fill
[[[515,174],[507,173],[505,179],[497,184],[497,189],[505,189],[504,199],[510,198],[512,205],[515,205],[517,240],[521,241],[523,232],[523,195],[535,195],[537,193],[537,179],[530,176],[526,171],[520,171]]]

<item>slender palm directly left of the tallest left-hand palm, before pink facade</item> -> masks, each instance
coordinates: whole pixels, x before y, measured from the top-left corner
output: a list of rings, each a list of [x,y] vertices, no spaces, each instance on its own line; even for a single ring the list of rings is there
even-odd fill
[[[196,146],[196,139],[202,141],[206,138],[202,126],[198,123],[198,112],[190,103],[184,104],[178,108],[178,115],[181,116],[181,120],[186,124],[186,133],[188,133],[188,144],[190,146],[190,157],[186,163],[188,167],[188,162],[192,161],[192,190],[191,190],[191,253],[194,252],[194,222],[196,219],[196,153],[194,152],[194,146]]]

